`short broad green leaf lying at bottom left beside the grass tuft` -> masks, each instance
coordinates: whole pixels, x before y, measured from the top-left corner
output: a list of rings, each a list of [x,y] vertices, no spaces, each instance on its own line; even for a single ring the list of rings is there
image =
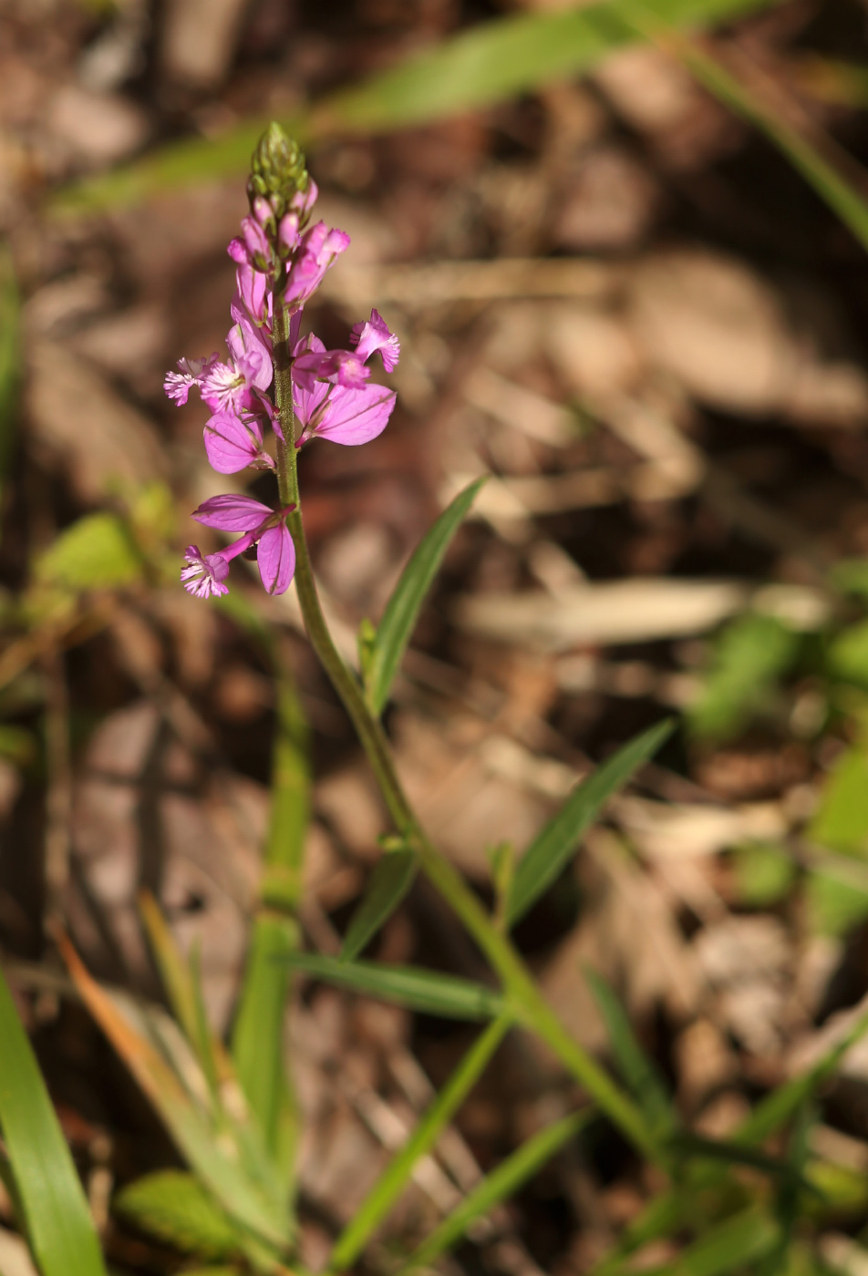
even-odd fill
[[[239,1234],[202,1184],[181,1170],[147,1174],[123,1188],[114,1208],[143,1231],[200,1258],[230,1258]]]

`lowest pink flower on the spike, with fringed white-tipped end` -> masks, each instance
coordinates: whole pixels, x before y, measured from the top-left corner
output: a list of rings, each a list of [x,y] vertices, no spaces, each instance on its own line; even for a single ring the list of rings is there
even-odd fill
[[[251,496],[235,493],[203,501],[193,514],[197,522],[245,535],[227,549],[206,558],[195,545],[190,545],[188,567],[181,572],[184,588],[198,598],[228,593],[222,582],[228,575],[230,561],[258,542],[257,564],[263,587],[268,593],[286,593],[295,573],[295,545],[286,526],[286,516],[292,509],[295,505],[272,510]]]

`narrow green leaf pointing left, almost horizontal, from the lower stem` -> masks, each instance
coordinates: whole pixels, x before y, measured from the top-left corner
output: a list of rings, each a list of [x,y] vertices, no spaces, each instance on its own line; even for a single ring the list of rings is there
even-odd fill
[[[354,993],[397,1002],[423,1014],[452,1020],[489,1020],[504,1011],[499,993],[456,975],[439,975],[416,966],[387,966],[384,962],[343,962],[337,957],[294,953],[290,967],[327,984]]]

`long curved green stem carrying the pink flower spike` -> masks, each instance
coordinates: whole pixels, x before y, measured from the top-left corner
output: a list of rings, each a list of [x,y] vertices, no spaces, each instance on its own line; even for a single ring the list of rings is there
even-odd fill
[[[536,988],[534,979],[509,939],[502,934],[477,897],[453,865],[425,836],[405,796],[394,771],[385,732],[368,708],[357,680],[347,669],[332,642],[317,595],[308,542],[301,521],[295,449],[295,416],[292,410],[291,367],[286,352],[288,316],[274,316],[276,402],[286,444],[278,440],[277,477],[281,501],[295,503],[287,527],[295,542],[295,582],[308,637],[328,674],[332,685],[350,715],[368,760],[382,790],[385,805],[398,832],[419,855],[423,872],[449,903],[497,971],[509,997],[517,1020],[537,1034],[592,1096],[627,1138],[651,1160],[664,1160],[661,1148],[633,1101],[610,1079],[608,1073],[567,1032],[560,1020]]]

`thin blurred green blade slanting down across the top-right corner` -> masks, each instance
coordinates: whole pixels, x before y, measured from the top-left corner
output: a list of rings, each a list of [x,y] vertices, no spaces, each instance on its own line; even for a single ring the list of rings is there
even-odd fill
[[[760,101],[743,83],[731,75],[707,50],[696,41],[687,40],[673,29],[659,6],[640,4],[637,0],[624,0],[625,15],[632,10],[632,22],[638,34],[660,43],[696,77],[710,93],[717,97],[737,115],[753,124],[790,161],[797,172],[813,186],[821,199],[850,228],[864,249],[868,249],[868,174],[857,162],[844,156],[841,161],[858,175],[863,191],[857,190],[839,168],[821,154],[819,147],[836,152],[837,147],[828,137],[816,134],[814,142],[803,131],[793,128],[781,112],[767,101]]]

